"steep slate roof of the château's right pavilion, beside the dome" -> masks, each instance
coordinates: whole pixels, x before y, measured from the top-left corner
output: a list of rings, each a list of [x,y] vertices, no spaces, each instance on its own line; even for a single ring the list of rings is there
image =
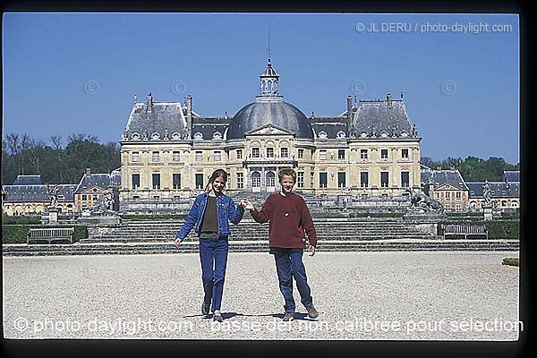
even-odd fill
[[[402,99],[361,100],[354,112],[353,126],[356,138],[418,138]]]

